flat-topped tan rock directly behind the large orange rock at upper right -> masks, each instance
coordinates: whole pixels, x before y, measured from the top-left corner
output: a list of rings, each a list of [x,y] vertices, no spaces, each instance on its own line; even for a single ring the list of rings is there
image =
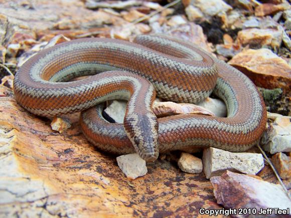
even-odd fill
[[[239,31],[237,41],[242,46],[249,45],[254,48],[271,46],[279,48],[282,42],[282,30],[250,28]]]

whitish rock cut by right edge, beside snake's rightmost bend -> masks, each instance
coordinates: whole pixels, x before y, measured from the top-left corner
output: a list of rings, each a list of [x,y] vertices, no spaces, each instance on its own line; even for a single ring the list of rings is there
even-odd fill
[[[271,154],[291,151],[291,123],[289,118],[277,117],[264,132],[261,143]]]

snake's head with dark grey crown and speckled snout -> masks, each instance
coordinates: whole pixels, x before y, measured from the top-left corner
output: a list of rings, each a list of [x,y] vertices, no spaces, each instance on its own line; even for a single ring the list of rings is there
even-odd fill
[[[124,117],[125,132],[137,154],[145,161],[159,157],[158,120],[153,112],[130,113]]]

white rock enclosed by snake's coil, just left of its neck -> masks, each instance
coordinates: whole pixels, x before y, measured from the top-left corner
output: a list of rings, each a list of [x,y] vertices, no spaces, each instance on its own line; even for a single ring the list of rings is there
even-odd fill
[[[104,112],[111,117],[116,123],[123,123],[126,101],[114,100],[112,103],[104,110]]]

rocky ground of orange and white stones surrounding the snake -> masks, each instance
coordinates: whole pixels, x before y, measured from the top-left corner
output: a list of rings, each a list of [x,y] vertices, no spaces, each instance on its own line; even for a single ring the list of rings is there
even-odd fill
[[[13,75],[38,51],[79,38],[132,41],[139,34],[194,43],[246,74],[268,111],[260,147],[245,153],[176,151],[154,163],[135,154],[116,158],[86,140],[79,114],[36,117],[14,100]],[[0,216],[192,217],[201,216],[202,207],[277,207],[282,214],[272,215],[287,217],[290,35],[291,8],[285,0],[1,1]],[[108,102],[104,115],[122,123],[125,105]],[[199,105],[158,99],[154,111],[160,117],[227,113],[215,96]]]

